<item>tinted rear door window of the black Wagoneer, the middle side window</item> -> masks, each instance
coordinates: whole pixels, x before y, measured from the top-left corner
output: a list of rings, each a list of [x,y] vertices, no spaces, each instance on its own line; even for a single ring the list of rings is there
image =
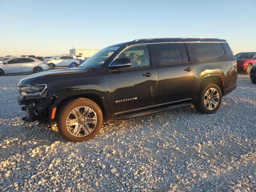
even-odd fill
[[[160,64],[183,62],[182,53],[178,43],[156,44]]]

